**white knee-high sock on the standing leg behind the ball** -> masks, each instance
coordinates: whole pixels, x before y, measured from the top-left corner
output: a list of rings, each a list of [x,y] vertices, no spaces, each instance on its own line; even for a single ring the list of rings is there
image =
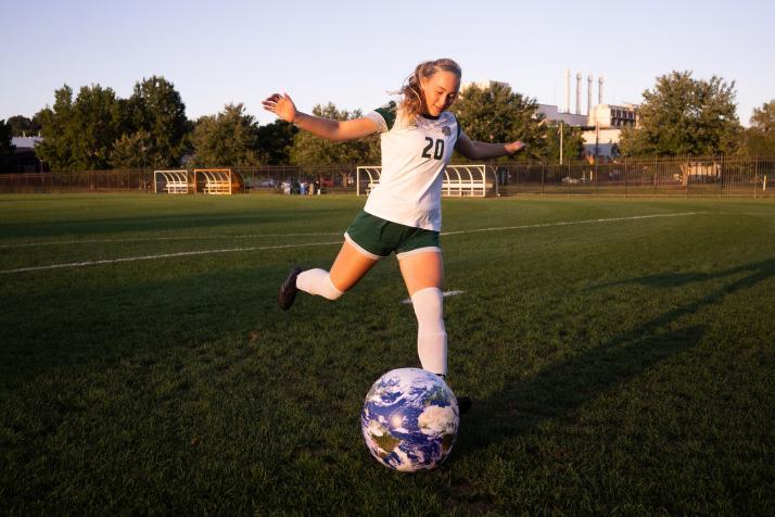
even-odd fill
[[[417,316],[417,354],[422,369],[447,375],[447,331],[444,327],[442,290],[429,287],[411,297]]]

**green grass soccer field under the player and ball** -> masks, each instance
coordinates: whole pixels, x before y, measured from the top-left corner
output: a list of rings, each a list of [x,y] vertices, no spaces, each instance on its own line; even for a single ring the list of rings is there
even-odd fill
[[[363,202],[0,197],[0,514],[775,513],[772,200],[445,201],[474,406],[418,475],[360,437],[418,366],[395,258],[276,306]]]

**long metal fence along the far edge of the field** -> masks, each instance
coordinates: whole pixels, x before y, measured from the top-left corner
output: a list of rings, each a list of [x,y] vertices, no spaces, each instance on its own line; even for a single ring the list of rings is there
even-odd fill
[[[355,193],[364,164],[232,167],[247,193]],[[498,163],[500,196],[567,194],[623,197],[773,197],[775,157],[679,157],[609,163]],[[307,189],[309,191],[313,189]],[[0,192],[153,192],[153,171],[0,174]]]

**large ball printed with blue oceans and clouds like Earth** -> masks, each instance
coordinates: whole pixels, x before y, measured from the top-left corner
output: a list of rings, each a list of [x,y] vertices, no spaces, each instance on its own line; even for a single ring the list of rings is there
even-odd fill
[[[371,455],[402,471],[429,470],[449,455],[459,425],[457,399],[444,379],[398,368],[366,395],[360,429]]]

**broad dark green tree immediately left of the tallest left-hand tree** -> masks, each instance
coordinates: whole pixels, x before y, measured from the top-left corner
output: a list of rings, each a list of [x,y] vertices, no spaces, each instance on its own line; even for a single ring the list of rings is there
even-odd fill
[[[113,142],[119,134],[119,104],[111,88],[81,87],[73,101],[67,85],[54,92],[53,109],[40,112],[43,141],[38,156],[53,171],[92,171],[111,165]]]

